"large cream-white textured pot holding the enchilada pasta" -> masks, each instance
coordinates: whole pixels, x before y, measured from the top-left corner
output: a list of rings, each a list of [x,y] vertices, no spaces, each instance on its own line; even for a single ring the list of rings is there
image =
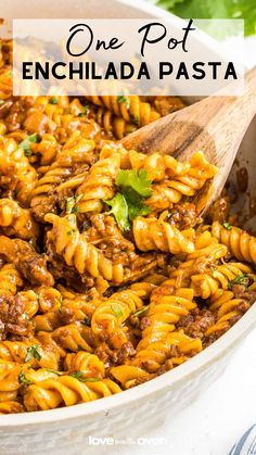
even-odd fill
[[[61,7],[61,8],[60,8]],[[164,17],[166,12],[138,0],[12,0],[5,2],[4,18],[13,17]],[[174,22],[177,24],[177,17]],[[10,23],[5,26],[10,35]],[[207,41],[206,41],[207,45]],[[255,192],[253,160],[256,118],[241,146],[238,161],[246,165],[249,191]],[[251,165],[249,165],[251,164]],[[236,167],[235,167],[236,166]],[[234,165],[231,179],[235,185]],[[244,194],[238,206],[247,204]],[[256,323],[254,305],[225,336],[185,364],[126,392],[87,404],[48,412],[0,417],[0,453],[89,453],[88,437],[136,438],[164,418],[172,418],[207,389],[223,371],[234,350]],[[94,450],[95,447],[91,447]],[[95,452],[94,452],[95,453]],[[98,452],[99,453],[99,452]]]

